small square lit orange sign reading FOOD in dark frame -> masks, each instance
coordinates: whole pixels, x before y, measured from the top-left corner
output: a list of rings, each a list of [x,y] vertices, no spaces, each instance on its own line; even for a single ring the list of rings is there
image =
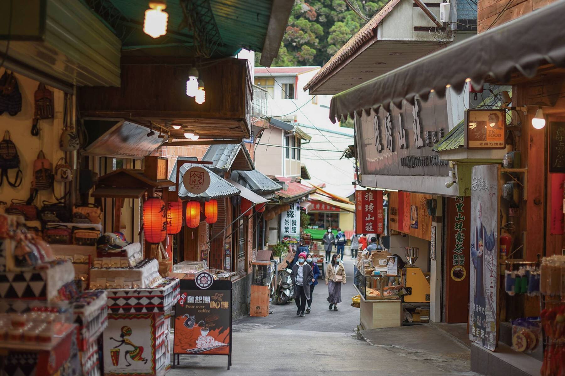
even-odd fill
[[[498,109],[470,109],[467,118],[467,148],[504,149],[506,113]]]

